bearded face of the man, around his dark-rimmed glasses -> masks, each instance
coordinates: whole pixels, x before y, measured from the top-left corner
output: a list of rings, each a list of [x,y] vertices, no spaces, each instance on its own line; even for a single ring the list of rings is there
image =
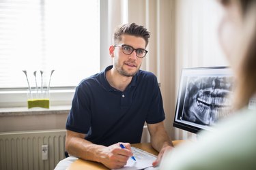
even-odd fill
[[[133,35],[122,35],[122,40],[119,44],[126,44],[132,46],[132,48],[143,48],[145,49],[145,40],[142,37],[135,37]],[[139,58],[134,50],[132,54],[124,54],[122,47],[116,46],[113,48],[114,68],[120,75],[130,77],[139,71],[143,58]]]

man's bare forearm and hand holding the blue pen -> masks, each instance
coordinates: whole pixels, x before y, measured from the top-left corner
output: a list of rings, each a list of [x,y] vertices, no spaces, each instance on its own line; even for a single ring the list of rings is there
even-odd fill
[[[120,143],[106,147],[85,140],[85,135],[67,130],[66,150],[70,155],[102,163],[110,169],[124,167],[128,158],[132,156],[130,143],[122,143],[124,149],[121,148]]]

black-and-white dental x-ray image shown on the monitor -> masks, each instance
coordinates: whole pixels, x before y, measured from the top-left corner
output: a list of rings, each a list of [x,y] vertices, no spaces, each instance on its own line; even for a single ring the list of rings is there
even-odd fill
[[[231,77],[189,77],[184,96],[182,120],[213,125],[229,115]]]

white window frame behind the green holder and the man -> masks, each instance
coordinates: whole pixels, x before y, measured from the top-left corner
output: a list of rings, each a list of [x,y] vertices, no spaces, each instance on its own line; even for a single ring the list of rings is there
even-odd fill
[[[108,1],[100,1],[100,70],[111,62],[106,58],[109,47]],[[104,54],[104,55],[102,55]],[[50,89],[50,107],[71,105],[76,86],[55,87]],[[27,107],[27,88],[0,88],[0,107]]]

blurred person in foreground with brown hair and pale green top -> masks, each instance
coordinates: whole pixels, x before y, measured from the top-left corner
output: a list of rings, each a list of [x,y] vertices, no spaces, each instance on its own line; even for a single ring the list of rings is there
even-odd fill
[[[256,110],[248,108],[256,93],[256,1],[219,3],[225,12],[219,41],[236,80],[233,114],[213,133],[203,131],[195,143],[165,154],[160,169],[256,169]]]

